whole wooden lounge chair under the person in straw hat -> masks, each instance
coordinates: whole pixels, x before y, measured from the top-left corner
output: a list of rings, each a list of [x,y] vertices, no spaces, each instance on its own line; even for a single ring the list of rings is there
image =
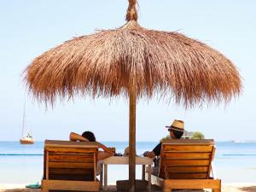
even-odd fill
[[[152,183],[164,192],[172,189],[212,189],[221,191],[221,180],[211,177],[214,156],[213,140],[164,140],[160,170]]]

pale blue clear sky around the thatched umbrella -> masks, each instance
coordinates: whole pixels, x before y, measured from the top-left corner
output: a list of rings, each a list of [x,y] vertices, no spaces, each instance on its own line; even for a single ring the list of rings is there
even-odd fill
[[[153,98],[137,102],[137,141],[159,141],[173,119],[185,130],[217,141],[256,140],[256,1],[140,0],[138,22],[182,32],[218,49],[242,77],[239,97],[227,105],[185,110]],[[126,0],[0,0],[0,141],[19,141],[26,98],[26,129],[35,141],[67,140],[69,132],[93,131],[98,141],[128,141],[125,98],[77,96],[45,108],[26,89],[23,72],[33,58],[64,41],[125,24]]]

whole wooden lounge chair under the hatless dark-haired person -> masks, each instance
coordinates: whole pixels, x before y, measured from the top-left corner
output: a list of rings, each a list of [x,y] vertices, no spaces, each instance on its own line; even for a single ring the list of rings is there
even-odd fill
[[[99,191],[100,183],[96,179],[97,152],[96,143],[46,140],[42,192]]]

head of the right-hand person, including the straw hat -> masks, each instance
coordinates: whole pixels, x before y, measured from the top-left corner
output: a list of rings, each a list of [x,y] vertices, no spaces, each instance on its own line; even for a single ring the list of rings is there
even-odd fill
[[[184,132],[184,122],[175,119],[171,126],[166,126],[170,132],[170,137],[173,139],[180,139]]]

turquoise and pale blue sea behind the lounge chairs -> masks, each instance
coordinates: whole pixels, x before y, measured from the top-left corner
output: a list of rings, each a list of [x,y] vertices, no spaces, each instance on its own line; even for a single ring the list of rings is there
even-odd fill
[[[123,153],[128,143],[104,142]],[[157,142],[138,142],[137,154],[154,148]],[[33,183],[43,175],[44,143],[20,145],[18,142],[0,142],[0,183]],[[256,182],[256,143],[216,143],[214,166],[216,176],[224,183]],[[141,177],[137,166],[137,177]],[[128,166],[108,166],[108,183],[128,177]]]

